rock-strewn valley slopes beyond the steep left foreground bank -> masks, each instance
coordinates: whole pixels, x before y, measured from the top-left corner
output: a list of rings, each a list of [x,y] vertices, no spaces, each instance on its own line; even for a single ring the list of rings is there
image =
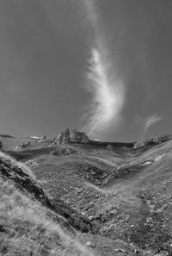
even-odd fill
[[[55,211],[93,255],[172,255],[171,140],[136,148],[6,137],[2,142],[6,153],[34,172]]]

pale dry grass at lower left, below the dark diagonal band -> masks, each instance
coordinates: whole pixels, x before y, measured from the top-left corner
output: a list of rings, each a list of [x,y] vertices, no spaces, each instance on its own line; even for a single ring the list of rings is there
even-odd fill
[[[0,178],[0,255],[93,255],[47,215],[47,210]]]

